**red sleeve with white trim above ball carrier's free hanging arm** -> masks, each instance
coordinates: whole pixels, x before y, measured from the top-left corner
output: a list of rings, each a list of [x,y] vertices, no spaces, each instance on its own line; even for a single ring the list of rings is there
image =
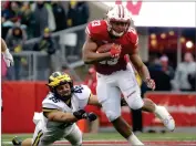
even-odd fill
[[[138,35],[135,29],[131,28],[128,29],[128,36],[130,36],[130,42],[133,49],[136,49],[138,45]]]

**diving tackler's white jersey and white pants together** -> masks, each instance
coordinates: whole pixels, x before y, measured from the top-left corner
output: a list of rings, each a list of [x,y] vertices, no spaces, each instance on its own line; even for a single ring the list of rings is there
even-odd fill
[[[43,112],[58,109],[73,113],[83,109],[87,105],[90,96],[91,90],[86,85],[76,85],[71,97],[71,106],[56,98],[53,93],[49,93],[42,102],[42,108]],[[82,133],[74,123],[51,122],[42,113],[35,113],[33,122],[37,125],[33,134],[33,145],[50,145],[63,137],[72,145],[82,144]]]

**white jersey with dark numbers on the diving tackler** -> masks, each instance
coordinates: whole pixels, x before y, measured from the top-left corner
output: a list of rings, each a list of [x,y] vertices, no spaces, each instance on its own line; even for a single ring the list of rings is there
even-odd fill
[[[42,102],[42,111],[50,112],[53,109],[62,111],[64,113],[73,113],[79,109],[83,109],[87,105],[89,97],[91,96],[91,90],[86,85],[75,85],[74,93],[71,97],[71,106],[66,105],[60,98],[56,98],[53,93],[49,93]],[[73,123],[60,123],[60,122],[50,122],[42,114],[42,121],[45,124],[45,127],[55,128],[55,127],[68,127]]]

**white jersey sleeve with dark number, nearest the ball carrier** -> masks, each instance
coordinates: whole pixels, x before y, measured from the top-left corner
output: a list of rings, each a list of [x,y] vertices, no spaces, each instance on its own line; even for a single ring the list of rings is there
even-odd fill
[[[91,90],[86,85],[75,86],[74,88],[76,97],[79,100],[79,107],[84,108],[87,105],[89,98],[91,96]]]

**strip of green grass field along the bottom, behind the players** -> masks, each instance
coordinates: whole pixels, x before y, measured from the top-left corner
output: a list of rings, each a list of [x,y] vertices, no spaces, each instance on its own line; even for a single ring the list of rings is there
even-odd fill
[[[21,139],[32,137],[32,134],[2,134],[2,144],[11,142],[13,136],[19,136]],[[137,134],[138,138],[144,142],[151,140],[166,140],[166,142],[196,142],[196,134],[190,133],[156,133],[156,134]],[[99,134],[84,134],[84,140],[124,140],[124,138],[117,133],[99,133]],[[8,144],[7,144],[8,145]]]

